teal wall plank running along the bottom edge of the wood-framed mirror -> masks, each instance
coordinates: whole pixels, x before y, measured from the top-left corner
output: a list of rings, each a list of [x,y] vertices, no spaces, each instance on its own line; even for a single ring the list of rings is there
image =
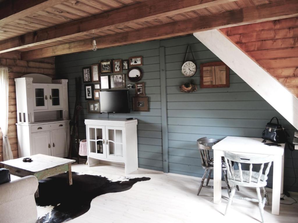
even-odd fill
[[[197,84],[198,81],[195,81]],[[246,83],[230,83],[230,87],[217,87],[217,88],[200,88],[197,85],[198,91],[191,92],[191,94],[201,94],[201,93],[226,93],[226,92],[254,92],[254,90],[249,87]],[[180,91],[179,86],[167,87],[167,95],[171,94],[185,94]],[[190,93],[187,93],[190,95]]]

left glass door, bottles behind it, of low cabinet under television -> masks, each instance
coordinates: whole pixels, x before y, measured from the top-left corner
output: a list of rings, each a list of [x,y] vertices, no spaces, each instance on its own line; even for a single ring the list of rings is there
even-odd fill
[[[104,133],[104,126],[89,125],[87,134],[90,155],[106,157]]]

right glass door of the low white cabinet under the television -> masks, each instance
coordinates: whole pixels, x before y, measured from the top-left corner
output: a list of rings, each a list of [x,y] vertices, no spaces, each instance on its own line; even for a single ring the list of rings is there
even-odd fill
[[[106,127],[107,157],[123,160],[124,128]]]

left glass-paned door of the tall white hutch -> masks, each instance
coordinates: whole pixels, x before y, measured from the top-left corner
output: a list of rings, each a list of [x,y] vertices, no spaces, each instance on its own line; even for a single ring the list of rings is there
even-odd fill
[[[33,85],[34,95],[34,110],[48,109],[48,95],[47,85],[34,84]]]

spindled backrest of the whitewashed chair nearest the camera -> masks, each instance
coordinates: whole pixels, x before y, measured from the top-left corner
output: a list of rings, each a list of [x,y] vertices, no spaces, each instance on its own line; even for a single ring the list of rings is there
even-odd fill
[[[272,155],[261,155],[261,154],[256,154],[256,155],[247,155],[247,154],[237,154],[237,153],[231,153],[231,152],[226,152],[224,151],[224,159],[225,162],[227,164],[227,171],[228,171],[228,177],[239,181],[241,183],[243,183],[243,170],[241,168],[241,163],[244,164],[249,164],[249,175],[245,175],[246,177],[248,177],[248,179],[244,179],[246,182],[248,183],[252,183],[252,168],[253,168],[253,164],[261,164],[260,166],[260,170],[257,173],[257,182],[253,182],[253,183],[260,183],[260,181],[266,181],[268,179],[268,173],[271,167],[271,163],[273,161],[273,156]],[[237,179],[235,177],[235,173],[234,173],[234,166],[232,165],[232,161],[234,161],[234,163],[236,162],[238,164],[239,167],[239,178]],[[264,177],[263,179],[261,179],[261,176],[263,174],[263,169],[264,169],[264,164],[268,163],[267,168],[265,170],[264,173]],[[256,173],[256,172],[254,172]]]

